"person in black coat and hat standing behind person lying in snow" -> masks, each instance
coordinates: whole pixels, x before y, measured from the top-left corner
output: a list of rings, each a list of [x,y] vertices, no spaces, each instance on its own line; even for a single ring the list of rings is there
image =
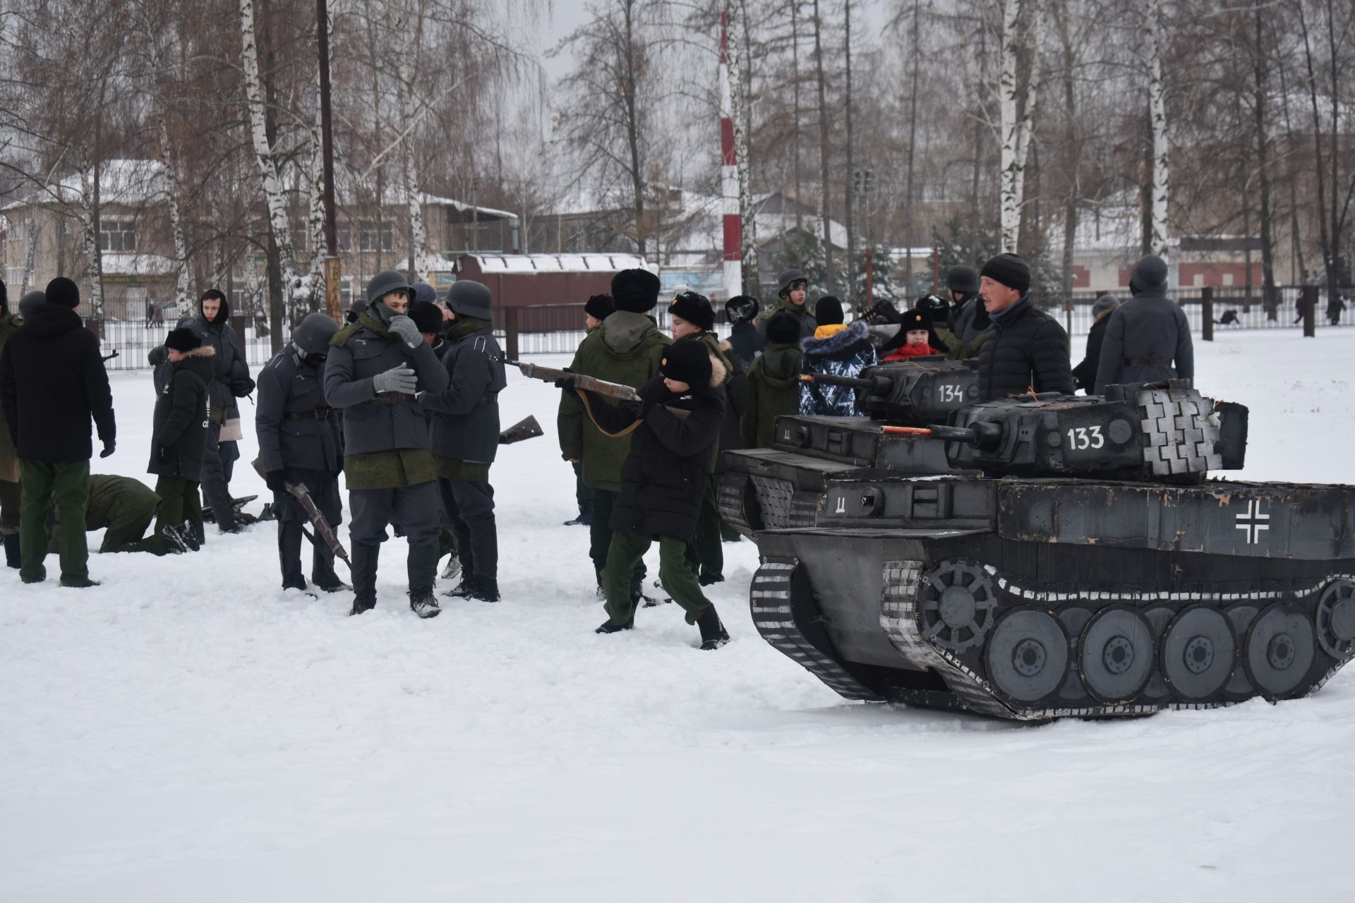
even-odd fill
[[[169,370],[152,416],[150,466],[146,472],[159,477],[160,517],[156,532],[178,528],[186,542],[192,540],[188,544],[194,547],[205,539],[198,485],[207,454],[207,387],[215,372],[213,360],[217,349],[203,345],[191,329],[182,328],[169,330],[164,349]]]

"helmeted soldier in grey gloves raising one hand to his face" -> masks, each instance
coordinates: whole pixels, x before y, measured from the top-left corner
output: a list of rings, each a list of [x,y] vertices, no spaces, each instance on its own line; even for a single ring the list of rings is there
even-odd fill
[[[423,391],[447,387],[447,371],[405,315],[413,290],[388,269],[367,283],[369,307],[331,340],[325,401],[343,408],[344,474],[352,523],[354,602],[350,615],[377,605],[377,556],[394,516],[409,542],[409,608],[439,613],[432,594],[442,501],[430,451]]]

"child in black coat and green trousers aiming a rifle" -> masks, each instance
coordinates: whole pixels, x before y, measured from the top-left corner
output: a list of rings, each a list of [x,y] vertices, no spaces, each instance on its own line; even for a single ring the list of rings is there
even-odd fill
[[[640,389],[638,402],[612,406],[573,390],[588,417],[608,436],[633,433],[611,512],[611,547],[602,571],[607,620],[599,634],[635,624],[630,575],[659,539],[659,579],[701,628],[701,647],[720,648],[729,634],[686,562],[706,487],[706,463],[725,418],[725,366],[705,343],[680,341],[664,351],[659,375]],[[568,383],[562,383],[566,391]]]

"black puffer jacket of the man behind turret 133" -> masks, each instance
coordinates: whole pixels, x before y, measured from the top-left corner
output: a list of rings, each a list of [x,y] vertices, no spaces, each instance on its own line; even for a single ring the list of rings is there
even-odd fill
[[[978,399],[1075,391],[1068,333],[1028,296],[993,317],[992,336],[978,351]]]

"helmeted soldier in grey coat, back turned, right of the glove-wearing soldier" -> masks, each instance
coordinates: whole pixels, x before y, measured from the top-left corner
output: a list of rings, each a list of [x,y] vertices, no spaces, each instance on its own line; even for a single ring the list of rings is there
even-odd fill
[[[447,596],[499,601],[499,535],[489,466],[499,451],[499,393],[508,384],[495,341],[489,288],[458,279],[447,292],[453,321],[442,363],[449,383],[420,401],[434,412],[432,455],[449,525],[457,539],[461,585]]]

